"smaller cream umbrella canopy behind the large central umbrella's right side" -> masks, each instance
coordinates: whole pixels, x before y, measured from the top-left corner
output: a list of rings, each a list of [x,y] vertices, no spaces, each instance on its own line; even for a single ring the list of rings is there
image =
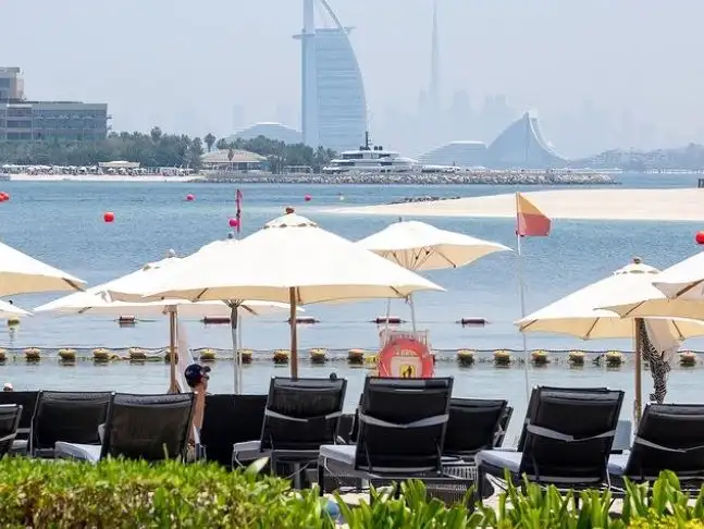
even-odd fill
[[[489,254],[510,250],[503,244],[419,221],[395,222],[357,244],[416,271],[464,267]]]

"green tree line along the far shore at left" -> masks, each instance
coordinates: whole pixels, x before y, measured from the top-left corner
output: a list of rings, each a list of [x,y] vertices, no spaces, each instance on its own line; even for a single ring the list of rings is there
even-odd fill
[[[0,142],[0,165],[76,165],[89,167],[100,162],[126,160],[143,168],[189,168],[198,170],[206,149],[248,150],[263,156],[269,170],[281,173],[286,168],[307,167],[320,170],[335,157],[331,149],[312,149],[304,144],[287,145],[259,136],[254,139],[218,139],[211,133],[203,138],[184,134],[165,134],[155,126],[148,134],[110,133],[100,142]],[[231,157],[232,157],[231,155]]]

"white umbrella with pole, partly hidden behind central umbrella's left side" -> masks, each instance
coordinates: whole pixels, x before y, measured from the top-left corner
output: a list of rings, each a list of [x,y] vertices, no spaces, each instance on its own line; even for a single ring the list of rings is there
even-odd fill
[[[208,317],[227,316],[232,317],[232,308],[223,302],[193,303],[187,299],[160,299],[147,302],[144,298],[135,298],[132,302],[115,300],[111,293],[115,292],[145,292],[158,280],[159,275],[182,259],[176,257],[174,250],[169,251],[169,257],[160,261],[150,262],[139,270],[118,278],[115,280],[92,286],[84,292],[76,292],[67,296],[54,299],[35,309],[35,312],[54,312],[59,315],[84,315],[94,316],[162,316],[170,317],[170,354],[171,354],[171,384],[174,387],[176,381],[176,318],[185,317]],[[243,302],[242,313],[261,316],[276,311],[288,311],[288,304],[272,302]],[[239,315],[237,315],[238,317]],[[233,323],[237,328],[236,322]],[[237,349],[235,341],[234,350]]]

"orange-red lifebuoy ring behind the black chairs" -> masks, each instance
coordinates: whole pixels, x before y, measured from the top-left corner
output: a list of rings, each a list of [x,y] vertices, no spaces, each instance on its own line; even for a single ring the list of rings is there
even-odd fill
[[[429,379],[433,377],[433,357],[418,340],[398,337],[388,342],[376,356],[380,377]]]

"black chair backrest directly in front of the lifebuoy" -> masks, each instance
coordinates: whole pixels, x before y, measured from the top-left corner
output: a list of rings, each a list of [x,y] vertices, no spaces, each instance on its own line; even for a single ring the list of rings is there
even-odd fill
[[[452,378],[368,378],[359,408],[356,467],[440,472],[452,392]]]

